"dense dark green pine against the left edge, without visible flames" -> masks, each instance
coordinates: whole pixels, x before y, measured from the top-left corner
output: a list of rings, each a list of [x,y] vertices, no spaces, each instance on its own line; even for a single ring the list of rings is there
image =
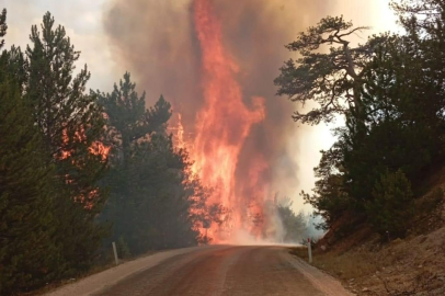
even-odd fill
[[[32,111],[12,80],[0,78],[0,294],[25,292],[57,277],[64,267],[53,240],[54,166]]]

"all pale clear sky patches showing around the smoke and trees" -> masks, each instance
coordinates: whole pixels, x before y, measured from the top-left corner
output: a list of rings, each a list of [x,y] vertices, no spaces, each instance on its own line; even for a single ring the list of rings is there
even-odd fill
[[[105,32],[106,22],[104,20],[107,18],[107,12],[112,5],[117,1],[118,0],[0,0],[0,8],[7,8],[8,10],[9,29],[8,35],[5,36],[7,46],[15,44],[24,48],[28,43],[31,25],[39,24],[43,14],[46,11],[50,11],[55,16],[56,24],[61,24],[66,27],[71,43],[76,46],[77,50],[81,52],[78,68],[87,64],[92,73],[88,87],[105,92],[111,91],[113,83],[118,81],[125,70],[129,70],[130,72],[136,71],[136,69],[132,69],[132,67],[134,67],[133,65],[125,64],[125,60],[117,57],[115,47],[111,44]],[[184,2],[185,0],[175,1]],[[128,0],[128,3],[130,2],[132,0]],[[153,1],[151,2],[155,3]],[[396,19],[388,8],[388,2],[389,0],[326,0],[326,3],[329,4],[330,15],[343,14],[346,20],[352,20],[356,25],[372,26],[373,30],[367,34],[397,30]],[[110,22],[110,19],[107,21]],[[304,20],[304,22],[316,24],[318,20],[308,19]],[[156,30],[156,27],[153,30]],[[295,34],[297,33],[298,32],[295,32]],[[149,35],[147,35],[147,37],[149,37]],[[356,38],[357,42],[365,42],[366,35],[357,36]],[[292,41],[289,39],[289,42]],[[282,45],[278,44],[277,46],[282,49]],[[271,88],[274,88],[272,82]],[[290,116],[290,114],[292,113],[283,114],[283,116]],[[336,125],[339,124],[341,124],[341,121],[336,123]],[[312,168],[316,167],[319,161],[319,151],[321,149],[328,149],[334,141],[330,132],[332,127],[332,125],[320,125],[317,127],[300,125],[298,126],[298,136],[290,136],[288,138],[286,149],[295,151],[294,159],[298,163],[298,182],[294,184],[294,196],[290,196],[295,201],[294,206],[297,210],[300,208],[309,209],[308,205],[303,204],[303,201],[298,197],[298,193],[301,190],[310,191],[313,186],[315,178]]]

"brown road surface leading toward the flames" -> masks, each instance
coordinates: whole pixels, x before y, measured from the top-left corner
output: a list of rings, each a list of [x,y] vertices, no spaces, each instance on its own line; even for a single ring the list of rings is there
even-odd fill
[[[85,295],[343,296],[352,294],[344,291],[332,277],[293,258],[288,254],[287,248],[218,246],[194,249],[166,258],[149,269]]]

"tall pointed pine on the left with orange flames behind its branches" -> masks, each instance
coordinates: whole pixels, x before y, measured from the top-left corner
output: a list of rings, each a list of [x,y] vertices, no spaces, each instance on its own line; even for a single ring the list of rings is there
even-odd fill
[[[33,107],[34,122],[59,179],[57,240],[68,262],[68,275],[88,269],[105,232],[95,218],[106,197],[99,186],[106,163],[93,149],[103,135],[104,121],[96,95],[85,93],[87,66],[73,75],[80,53],[65,29],[54,27],[54,23],[48,12],[42,32],[32,26],[25,100]]]

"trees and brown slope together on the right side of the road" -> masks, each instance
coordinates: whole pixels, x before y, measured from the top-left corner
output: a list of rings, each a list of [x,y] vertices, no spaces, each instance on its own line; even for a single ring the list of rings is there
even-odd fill
[[[345,123],[301,193],[327,230],[313,264],[357,295],[443,295],[445,1],[391,7],[402,34],[356,45],[367,27],[342,16],[301,32],[275,84],[312,107],[296,122]],[[304,247],[290,252],[307,260]]]

